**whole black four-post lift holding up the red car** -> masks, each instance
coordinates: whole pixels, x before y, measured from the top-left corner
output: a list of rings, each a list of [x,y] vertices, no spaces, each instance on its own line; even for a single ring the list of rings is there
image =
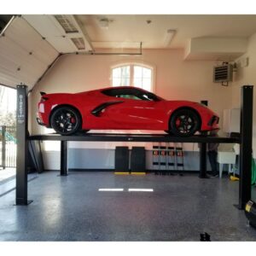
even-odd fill
[[[240,144],[240,181],[238,208],[244,209],[251,199],[252,129],[253,129],[253,86],[241,87],[241,133],[240,137],[173,137],[164,134],[109,134],[87,133],[83,135],[28,135],[27,87],[17,85],[17,175],[16,205],[28,205],[27,167],[29,141],[61,141],[61,176],[67,176],[67,142],[143,142],[143,143],[200,143],[200,175],[207,177],[207,143]]]

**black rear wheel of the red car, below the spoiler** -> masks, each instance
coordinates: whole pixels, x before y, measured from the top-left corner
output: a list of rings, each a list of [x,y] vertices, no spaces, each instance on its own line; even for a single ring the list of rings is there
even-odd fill
[[[51,127],[61,135],[72,135],[81,129],[79,112],[72,107],[56,108],[50,118]]]

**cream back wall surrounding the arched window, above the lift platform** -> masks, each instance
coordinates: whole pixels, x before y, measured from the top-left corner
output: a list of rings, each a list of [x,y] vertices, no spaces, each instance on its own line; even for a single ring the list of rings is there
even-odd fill
[[[212,83],[214,61],[183,61],[182,49],[147,49],[143,55],[62,55],[32,90],[32,133],[43,132],[35,121],[39,91],[79,92],[111,86],[110,67],[137,61],[156,70],[155,93],[170,100],[208,100],[222,125],[223,109],[230,108],[231,88]]]

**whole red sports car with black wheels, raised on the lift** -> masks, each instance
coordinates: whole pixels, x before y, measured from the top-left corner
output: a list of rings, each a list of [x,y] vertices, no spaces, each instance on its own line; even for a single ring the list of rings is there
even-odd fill
[[[41,92],[38,124],[61,135],[91,129],[162,130],[189,137],[218,129],[218,115],[197,102],[166,101],[131,86],[80,93]]]

